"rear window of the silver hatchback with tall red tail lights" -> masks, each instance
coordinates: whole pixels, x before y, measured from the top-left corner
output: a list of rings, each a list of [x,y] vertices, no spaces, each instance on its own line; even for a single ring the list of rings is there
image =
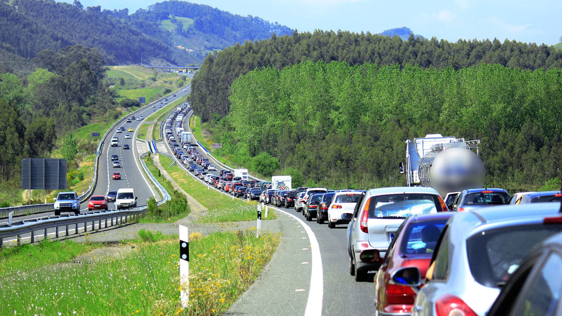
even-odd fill
[[[369,218],[401,217],[437,213],[441,203],[437,195],[423,193],[401,193],[371,197]]]

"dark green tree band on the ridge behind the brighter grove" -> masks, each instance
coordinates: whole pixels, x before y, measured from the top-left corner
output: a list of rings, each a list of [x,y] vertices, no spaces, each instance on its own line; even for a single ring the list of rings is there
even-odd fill
[[[302,61],[344,61],[350,65],[418,65],[422,69],[452,66],[458,70],[482,63],[509,68],[536,70],[562,66],[562,51],[545,44],[515,40],[447,40],[422,39],[410,35],[408,40],[370,33],[349,31],[315,31],[292,36],[275,36],[269,40],[245,42],[210,54],[192,83],[193,107],[203,121],[214,115],[223,117],[230,109],[230,85],[240,74],[256,68],[285,66]]]

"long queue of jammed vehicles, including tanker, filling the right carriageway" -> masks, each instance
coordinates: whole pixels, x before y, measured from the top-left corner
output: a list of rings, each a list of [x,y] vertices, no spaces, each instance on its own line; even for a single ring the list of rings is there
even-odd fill
[[[479,141],[407,140],[405,187],[293,188],[289,175],[260,182],[247,169],[217,168],[183,128],[190,110],[184,103],[165,127],[188,173],[327,229],[347,227],[349,274],[374,282],[374,314],[561,314],[562,194],[484,187]]]

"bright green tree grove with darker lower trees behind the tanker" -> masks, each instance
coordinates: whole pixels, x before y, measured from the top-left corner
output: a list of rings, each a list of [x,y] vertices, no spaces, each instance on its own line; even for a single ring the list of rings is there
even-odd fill
[[[346,62],[266,67],[234,81],[221,155],[261,152],[309,186],[405,183],[405,140],[481,139],[487,185],[527,191],[562,168],[562,69],[421,69]]]

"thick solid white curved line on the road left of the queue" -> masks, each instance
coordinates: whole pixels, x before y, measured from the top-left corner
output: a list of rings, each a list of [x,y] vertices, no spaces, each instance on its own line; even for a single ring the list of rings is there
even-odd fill
[[[320,246],[318,245],[318,240],[316,240],[316,235],[312,232],[309,225],[303,222],[302,219],[297,216],[287,213],[284,210],[273,207],[273,209],[281,211],[292,218],[298,220],[302,227],[305,228],[306,234],[309,236],[310,240],[310,250],[312,254],[311,260],[311,272],[310,272],[310,288],[309,288],[309,299],[306,302],[305,316],[311,315],[321,315],[322,314],[322,300],[324,297],[324,272],[322,269],[322,257],[320,255]]]

